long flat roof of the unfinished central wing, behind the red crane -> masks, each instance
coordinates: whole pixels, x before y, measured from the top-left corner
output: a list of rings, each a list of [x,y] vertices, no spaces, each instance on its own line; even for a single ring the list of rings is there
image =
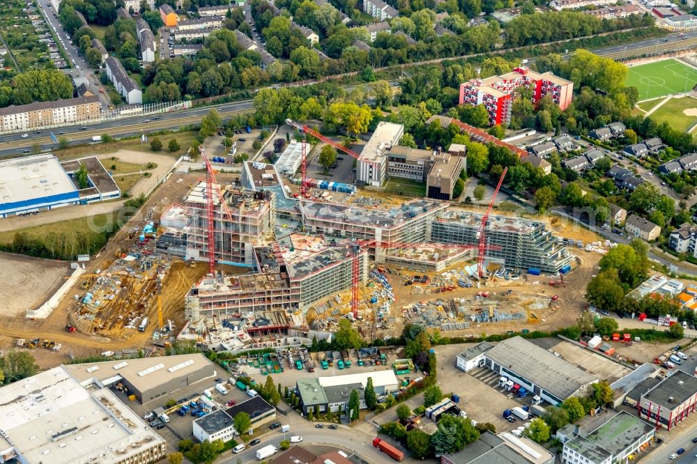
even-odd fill
[[[383,229],[390,229],[424,213],[433,210],[444,210],[445,208],[447,208],[447,203],[429,199],[415,199],[389,210],[310,201],[303,201],[300,204],[304,217],[321,221],[381,227]]]

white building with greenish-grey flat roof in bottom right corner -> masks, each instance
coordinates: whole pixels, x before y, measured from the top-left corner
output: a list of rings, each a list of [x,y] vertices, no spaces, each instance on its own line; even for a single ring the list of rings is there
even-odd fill
[[[618,412],[588,435],[579,431],[564,443],[562,463],[619,464],[648,444],[655,429],[629,412]]]

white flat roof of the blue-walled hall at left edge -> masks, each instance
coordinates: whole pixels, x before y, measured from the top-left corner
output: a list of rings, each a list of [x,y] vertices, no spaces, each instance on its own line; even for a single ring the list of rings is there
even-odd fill
[[[0,161],[0,209],[6,203],[75,193],[75,184],[54,155]]]

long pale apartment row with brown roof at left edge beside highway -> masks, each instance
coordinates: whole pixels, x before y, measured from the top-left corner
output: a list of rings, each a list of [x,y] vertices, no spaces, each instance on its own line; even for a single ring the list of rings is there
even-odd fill
[[[0,131],[92,121],[100,118],[101,113],[102,105],[95,95],[0,108]]]

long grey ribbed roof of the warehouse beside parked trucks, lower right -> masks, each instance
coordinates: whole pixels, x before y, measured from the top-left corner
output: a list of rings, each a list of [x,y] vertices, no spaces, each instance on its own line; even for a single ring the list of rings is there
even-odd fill
[[[556,357],[523,337],[500,341],[486,356],[493,362],[520,373],[559,399],[567,399],[583,385],[598,380],[579,367]]]

